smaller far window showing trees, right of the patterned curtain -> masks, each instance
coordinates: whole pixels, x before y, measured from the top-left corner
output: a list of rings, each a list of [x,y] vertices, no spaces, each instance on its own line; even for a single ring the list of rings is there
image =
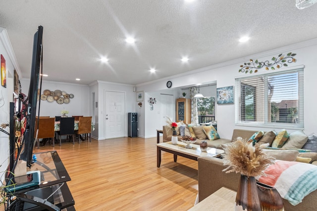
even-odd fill
[[[198,123],[209,123],[214,118],[215,97],[197,98]]]

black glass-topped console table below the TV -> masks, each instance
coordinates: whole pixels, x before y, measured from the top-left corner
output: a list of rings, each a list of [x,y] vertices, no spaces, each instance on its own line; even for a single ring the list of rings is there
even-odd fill
[[[71,179],[57,152],[41,152],[35,155],[37,162],[28,170],[39,170],[41,183],[36,188],[21,191],[16,195],[17,199],[23,202],[20,205],[23,206],[23,211],[75,211],[75,201],[66,184]]]

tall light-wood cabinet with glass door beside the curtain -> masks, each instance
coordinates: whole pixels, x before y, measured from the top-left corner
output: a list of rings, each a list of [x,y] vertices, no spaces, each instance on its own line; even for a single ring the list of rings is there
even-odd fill
[[[192,105],[191,99],[178,98],[176,99],[176,121],[183,121],[185,124],[190,124]]]

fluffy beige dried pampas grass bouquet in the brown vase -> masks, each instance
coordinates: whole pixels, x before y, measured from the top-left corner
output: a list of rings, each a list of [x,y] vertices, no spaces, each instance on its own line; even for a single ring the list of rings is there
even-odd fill
[[[239,138],[224,149],[223,171],[236,172],[246,176],[264,175],[264,170],[274,164],[274,158],[268,157],[260,146],[252,146],[252,142]]]

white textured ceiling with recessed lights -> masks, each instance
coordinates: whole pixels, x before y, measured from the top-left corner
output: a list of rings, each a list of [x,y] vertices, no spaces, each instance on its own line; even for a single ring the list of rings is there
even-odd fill
[[[45,80],[135,85],[317,38],[317,4],[299,10],[295,0],[0,0],[0,26],[23,78],[30,78],[39,25]],[[246,35],[249,42],[238,42]]]

